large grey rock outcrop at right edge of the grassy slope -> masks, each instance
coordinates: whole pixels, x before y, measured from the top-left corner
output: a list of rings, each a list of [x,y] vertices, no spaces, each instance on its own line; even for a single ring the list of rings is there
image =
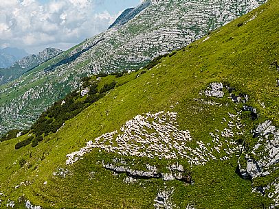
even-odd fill
[[[247,166],[243,168],[238,162],[239,171],[243,178],[251,178],[252,181],[269,175],[269,183],[254,188],[254,191],[271,198],[274,205],[269,208],[276,208],[279,206],[279,178],[271,174],[279,168],[279,129],[271,121],[265,121],[252,130],[252,134],[258,142],[246,153]]]

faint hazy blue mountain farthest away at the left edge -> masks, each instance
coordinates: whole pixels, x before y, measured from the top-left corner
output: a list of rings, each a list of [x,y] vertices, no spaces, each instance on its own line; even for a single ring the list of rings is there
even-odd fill
[[[11,47],[0,49],[0,68],[7,68],[25,56],[28,56],[28,53],[23,49]]]

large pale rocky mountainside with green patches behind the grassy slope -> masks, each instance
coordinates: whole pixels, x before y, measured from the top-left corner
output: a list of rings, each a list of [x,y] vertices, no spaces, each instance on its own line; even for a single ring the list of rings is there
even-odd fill
[[[0,132],[29,127],[54,101],[77,88],[80,77],[139,69],[156,56],[188,45],[264,2],[145,1],[124,15],[118,27],[1,86]]]

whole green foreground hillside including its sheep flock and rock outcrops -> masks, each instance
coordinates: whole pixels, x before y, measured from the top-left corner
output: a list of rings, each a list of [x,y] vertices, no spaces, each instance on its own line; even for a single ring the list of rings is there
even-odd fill
[[[92,77],[116,86],[34,148],[0,143],[3,205],[278,207],[278,12],[268,1],[149,71]]]

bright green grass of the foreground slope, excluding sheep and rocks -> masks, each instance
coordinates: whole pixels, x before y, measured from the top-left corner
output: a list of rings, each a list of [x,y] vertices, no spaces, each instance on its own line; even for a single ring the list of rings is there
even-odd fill
[[[161,63],[144,74],[102,77],[100,86],[115,81],[117,87],[66,121],[58,132],[45,136],[36,147],[14,149],[26,135],[0,143],[1,207],[14,202],[14,208],[25,208],[26,200],[42,208],[268,208],[274,205],[267,195],[252,193],[253,182],[243,180],[236,173],[241,156],[238,151],[221,160],[225,153],[222,148],[220,153],[215,153],[216,160],[204,165],[191,165],[178,154],[177,159],[153,159],[108,153],[101,148],[92,149],[82,159],[67,165],[66,155],[102,134],[115,130],[121,133],[126,121],[137,115],[160,111],[177,112],[179,130],[188,130],[192,137],[186,142],[188,148],[196,149],[200,142],[212,144],[210,132],[218,134],[227,127],[224,119],[230,120],[228,113],[238,115],[245,126],[243,135],[234,134],[227,140],[252,145],[255,139],[250,130],[258,124],[269,119],[279,125],[278,71],[272,65],[279,53],[278,12],[279,1],[268,1],[208,37],[161,58]],[[245,105],[256,108],[258,118],[253,120],[249,112],[241,111],[243,103],[234,103],[225,88],[223,98],[205,96],[203,91],[212,82],[230,84],[234,94],[248,95]],[[222,142],[228,146],[225,139]],[[249,146],[245,149],[249,151]],[[146,171],[146,164],[150,164],[161,173],[166,173],[170,164],[179,163],[192,181],[190,184],[138,177],[127,184],[126,173],[104,169],[106,163],[126,164],[141,171]],[[65,176],[54,173],[60,171],[65,171]],[[264,177],[263,182],[268,184],[276,177]],[[163,190],[171,195],[158,205],[156,195]]]

